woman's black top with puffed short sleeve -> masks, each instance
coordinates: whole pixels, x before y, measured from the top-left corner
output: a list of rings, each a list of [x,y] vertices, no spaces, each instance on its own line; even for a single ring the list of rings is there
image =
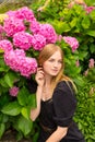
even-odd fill
[[[76,99],[72,84],[70,82],[68,83],[61,81],[55,88],[52,98],[45,102],[41,100],[39,115],[39,121],[50,129],[56,129],[57,126],[69,128],[67,135],[61,140],[61,142],[63,142],[64,139],[74,141],[83,139],[76,123],[73,121]],[[46,141],[49,134],[46,134],[43,130],[43,137],[44,141]]]

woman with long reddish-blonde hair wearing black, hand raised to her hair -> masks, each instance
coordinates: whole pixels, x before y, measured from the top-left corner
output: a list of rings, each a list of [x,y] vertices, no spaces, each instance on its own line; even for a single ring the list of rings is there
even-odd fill
[[[76,108],[74,84],[63,75],[63,52],[55,44],[48,44],[39,52],[36,100],[31,110],[34,121],[39,116],[40,134],[38,142],[84,142],[83,135],[73,121]]]

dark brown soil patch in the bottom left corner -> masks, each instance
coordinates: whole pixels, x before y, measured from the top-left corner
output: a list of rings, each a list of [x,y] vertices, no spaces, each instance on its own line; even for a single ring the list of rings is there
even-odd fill
[[[2,139],[0,140],[0,142],[32,142],[32,140],[27,140],[27,139],[22,139],[20,141],[15,140],[15,135],[16,132],[13,130],[8,130],[4,135],[2,137]]]

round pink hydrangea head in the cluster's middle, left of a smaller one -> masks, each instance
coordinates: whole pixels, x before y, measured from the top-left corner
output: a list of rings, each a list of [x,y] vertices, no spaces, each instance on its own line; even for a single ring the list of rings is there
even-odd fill
[[[32,35],[25,32],[19,32],[13,35],[13,44],[24,50],[28,50],[32,46]]]

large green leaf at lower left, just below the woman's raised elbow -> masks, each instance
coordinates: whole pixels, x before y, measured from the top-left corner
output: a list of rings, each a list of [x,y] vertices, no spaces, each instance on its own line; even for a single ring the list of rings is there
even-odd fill
[[[27,120],[23,116],[21,116],[17,120],[17,128],[23,132],[24,135],[27,135],[33,128],[33,121]]]

